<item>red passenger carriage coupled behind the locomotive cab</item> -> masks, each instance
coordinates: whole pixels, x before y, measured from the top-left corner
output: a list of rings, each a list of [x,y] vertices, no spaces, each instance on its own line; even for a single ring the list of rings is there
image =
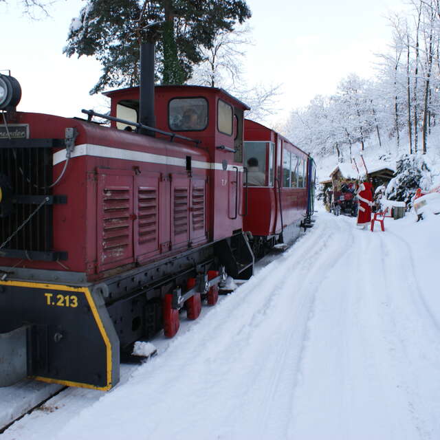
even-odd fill
[[[261,184],[250,179],[245,190],[243,228],[252,234],[257,256],[276,242],[294,241],[311,224],[316,166],[313,159],[283,135],[245,120],[244,164],[256,159]],[[245,177],[246,179],[246,177]]]

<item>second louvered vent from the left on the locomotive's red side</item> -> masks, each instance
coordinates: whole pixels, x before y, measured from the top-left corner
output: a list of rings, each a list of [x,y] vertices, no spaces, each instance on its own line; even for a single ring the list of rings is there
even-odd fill
[[[140,245],[157,240],[157,190],[139,188],[139,236]]]

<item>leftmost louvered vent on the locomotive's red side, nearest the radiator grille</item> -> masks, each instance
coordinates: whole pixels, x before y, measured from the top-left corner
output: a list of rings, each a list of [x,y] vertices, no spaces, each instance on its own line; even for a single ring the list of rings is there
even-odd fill
[[[102,196],[102,249],[113,258],[124,256],[130,245],[130,188],[104,188]]]

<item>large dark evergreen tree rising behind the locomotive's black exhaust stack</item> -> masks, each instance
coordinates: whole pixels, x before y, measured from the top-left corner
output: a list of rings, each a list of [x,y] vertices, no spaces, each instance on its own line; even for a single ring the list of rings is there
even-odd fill
[[[96,56],[102,76],[91,89],[137,85],[141,41],[157,42],[157,76],[183,84],[215,36],[250,17],[245,0],[87,0],[72,20],[67,56]]]

